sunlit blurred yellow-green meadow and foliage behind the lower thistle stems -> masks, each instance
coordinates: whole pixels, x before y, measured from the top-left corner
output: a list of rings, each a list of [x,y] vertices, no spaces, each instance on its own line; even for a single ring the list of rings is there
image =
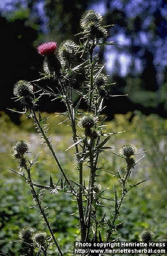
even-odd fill
[[[43,114],[43,113],[41,113]],[[48,116],[47,113],[44,113]],[[77,179],[77,170],[73,169],[73,149],[65,152],[72,143],[70,126],[62,122],[61,117],[55,117],[50,114],[48,122],[50,124],[50,134],[53,134],[54,146],[57,155],[63,164],[65,172]],[[131,122],[130,122],[131,121]],[[138,235],[143,229],[150,229],[155,233],[155,239],[160,240],[165,237],[166,226],[166,184],[167,184],[167,163],[165,134],[167,130],[167,121],[159,116],[152,114],[144,116],[136,112],[134,118],[132,113],[126,115],[115,115],[114,120],[107,123],[108,132],[117,132],[126,130],[122,134],[111,136],[108,144],[113,147],[112,152],[118,153],[118,149],[124,143],[136,144],[138,151],[147,150],[145,157],[133,170],[130,184],[136,184],[141,180],[151,178],[149,181],[140,184],[127,195],[124,200],[124,206],[120,211],[118,232],[114,233],[113,239],[122,235],[122,240],[138,240]],[[32,170],[32,176],[36,183],[41,184],[49,182],[49,176],[52,175],[53,182],[56,183],[60,177],[59,170],[45,149],[44,144],[40,144],[37,139],[37,132],[26,116],[21,118],[20,126],[16,126],[10,121],[10,118],[1,113],[0,116],[0,252],[8,256],[18,256],[20,243],[18,240],[18,231],[21,227],[31,226],[34,230],[46,230],[41,217],[36,208],[32,208],[33,201],[29,186],[24,180],[16,174],[10,172],[7,167],[16,170],[18,164],[9,156],[12,154],[12,143],[18,139],[29,140],[31,142],[31,151],[43,151],[39,157],[39,162],[35,164]],[[36,153],[37,154],[37,153]],[[31,159],[36,155],[29,154]],[[124,162],[111,152],[101,155],[99,166],[102,169],[116,173],[122,170]],[[102,185],[102,189],[108,188],[105,192],[106,197],[112,197],[113,183],[118,186],[116,179],[105,172],[99,170],[97,182]],[[84,178],[86,179],[86,170]],[[119,190],[119,188],[118,188]],[[65,194],[49,194],[45,192],[44,202],[49,206],[49,220],[61,245],[65,248],[67,255],[73,246],[73,241],[79,236],[76,227],[78,215],[76,204],[72,197]],[[108,203],[109,202],[109,203]],[[112,206],[112,202],[103,202]],[[112,214],[112,208],[100,208],[99,214],[106,212]],[[72,214],[72,215],[71,215]],[[48,234],[49,235],[49,234]],[[104,230],[102,235],[105,236]],[[54,249],[54,248],[53,248]],[[54,250],[53,250],[54,251]]]

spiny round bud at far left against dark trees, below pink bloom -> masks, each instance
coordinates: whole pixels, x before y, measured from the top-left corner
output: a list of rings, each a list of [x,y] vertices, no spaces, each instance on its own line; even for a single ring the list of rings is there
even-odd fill
[[[30,82],[26,80],[20,80],[16,82],[14,86],[14,95],[17,97],[24,97],[27,95],[32,95],[33,93],[33,86]]]

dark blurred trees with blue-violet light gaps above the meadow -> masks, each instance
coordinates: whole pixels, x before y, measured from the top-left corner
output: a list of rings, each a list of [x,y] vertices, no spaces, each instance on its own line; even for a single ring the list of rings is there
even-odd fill
[[[4,0],[0,1],[1,94],[0,110],[17,107],[13,96],[16,81],[39,77],[42,58],[36,46],[42,42],[58,44],[80,32],[83,12],[93,9],[104,17],[108,40],[119,45],[99,50],[110,82],[116,82],[112,94],[124,98],[106,100],[109,119],[115,113],[140,110],[144,114],[167,115],[167,5],[165,0]],[[10,74],[10,75],[9,75]],[[60,104],[43,102],[39,109],[61,111]],[[12,120],[18,117],[8,112]]]

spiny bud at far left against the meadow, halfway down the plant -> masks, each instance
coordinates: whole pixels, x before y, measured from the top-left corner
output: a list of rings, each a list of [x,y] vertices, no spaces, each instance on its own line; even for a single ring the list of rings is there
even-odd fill
[[[18,140],[13,144],[14,155],[18,158],[28,153],[30,143],[26,140]]]

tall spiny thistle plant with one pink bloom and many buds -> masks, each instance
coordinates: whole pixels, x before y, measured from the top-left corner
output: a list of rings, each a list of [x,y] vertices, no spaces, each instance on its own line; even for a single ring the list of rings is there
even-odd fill
[[[61,241],[57,240],[52,231],[49,214],[43,206],[43,193],[40,193],[41,190],[44,192],[49,190],[51,193],[57,193],[57,196],[59,196],[58,193],[71,194],[71,198],[75,199],[78,208],[79,239],[82,242],[100,241],[102,240],[101,230],[103,230],[106,233],[103,237],[103,242],[105,242],[113,239],[112,234],[118,226],[116,220],[119,217],[120,207],[126,194],[133,187],[143,182],[129,185],[130,174],[140,160],[136,160],[135,156],[139,153],[136,153],[136,146],[131,144],[123,145],[117,154],[125,161],[125,169],[123,174],[119,171],[114,174],[118,178],[121,187],[121,192],[118,193],[113,184],[114,199],[104,196],[106,188],[101,188],[100,174],[99,172],[97,174],[97,171],[100,170],[100,154],[104,154],[107,150],[112,150],[107,144],[110,136],[120,133],[106,132],[106,125],[104,124],[106,117],[102,114],[105,108],[104,99],[124,96],[110,94],[110,90],[107,89],[109,86],[108,76],[103,71],[105,65],[98,64],[98,54],[94,54],[96,48],[106,45],[112,47],[114,44],[106,39],[108,34],[106,28],[110,26],[112,25],[103,25],[100,14],[92,10],[85,12],[81,17],[82,31],[76,35],[80,36],[79,44],[75,44],[72,40],[65,40],[60,46],[56,42],[41,44],[38,46],[37,51],[43,56],[44,73],[35,81],[27,82],[21,80],[14,86],[14,96],[23,106],[23,112],[18,113],[28,115],[35,123],[39,132],[39,140],[42,140],[49,148],[55,160],[55,165],[59,168],[61,177],[59,180],[55,180],[55,177],[50,176],[48,184],[37,184],[33,179],[31,168],[35,165],[41,152],[34,159],[29,160],[30,145],[24,140],[18,140],[13,145],[13,156],[18,161],[20,171],[12,171],[20,175],[30,186],[35,207],[39,209],[48,232],[50,232],[52,242],[56,245],[61,256],[65,252],[60,246]],[[77,75],[81,72],[85,74],[85,80],[82,87],[76,89],[74,83]],[[52,87],[41,86],[40,82],[42,80],[47,81],[47,79],[53,81]],[[58,86],[54,86],[55,80]],[[74,95],[76,94],[78,100],[74,102]],[[77,181],[71,180],[70,172],[67,176],[62,160],[58,158],[56,148],[53,147],[49,127],[46,123],[47,118],[42,118],[38,111],[38,106],[44,95],[55,101],[61,99],[65,104],[66,111],[58,115],[64,115],[66,118],[64,122],[68,121],[71,125],[73,144],[66,150],[72,149],[75,152],[75,170],[71,171],[76,173]],[[79,108],[82,101],[86,102],[86,112]],[[84,168],[89,170],[89,177],[84,176]],[[87,178],[88,182],[85,181]],[[110,212],[108,217],[104,214],[99,218],[98,214],[96,214],[97,209],[105,207],[102,200],[106,200],[106,206],[108,202],[114,202],[114,208],[112,208],[114,210]],[[95,226],[94,234],[92,233],[92,226]],[[41,231],[35,234],[33,236],[33,244],[38,247],[39,255],[47,255],[48,244],[45,232]]]

